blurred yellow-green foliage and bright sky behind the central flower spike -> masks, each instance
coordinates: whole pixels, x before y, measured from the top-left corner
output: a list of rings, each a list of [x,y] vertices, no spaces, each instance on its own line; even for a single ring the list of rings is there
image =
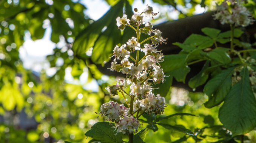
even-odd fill
[[[113,38],[106,48],[102,47],[104,39],[94,38],[104,33],[111,38],[116,36],[108,35],[108,31],[111,26],[119,31],[116,17],[122,17],[123,9],[113,7],[118,2],[0,0],[0,143],[63,143],[64,140],[87,143],[90,140],[84,134],[94,123],[103,120],[95,113],[100,105],[110,99],[120,101],[119,96],[110,96],[105,90],[106,86],[116,84],[119,75],[106,74],[110,72],[109,66],[103,65],[109,60],[113,45],[123,39],[113,42]],[[130,12],[133,8],[143,11],[147,4],[153,6],[154,12],[159,12],[152,21],[156,25],[214,11],[217,2],[128,0],[125,11],[128,12],[127,6],[131,7]],[[86,33],[87,38],[83,38]],[[75,40],[78,44],[73,44]],[[218,126],[221,125],[218,108],[204,107],[206,95],[180,87],[165,90],[168,106],[164,114],[196,114],[196,117],[173,117],[166,122],[193,131],[216,126],[216,131],[204,133],[208,135],[202,142],[219,140],[211,137],[223,130]],[[228,137],[227,131],[223,134]],[[250,134],[253,140],[256,132]],[[185,137],[184,133],[159,127],[157,132],[148,132],[145,142],[167,143],[182,135]],[[186,142],[190,141],[194,142],[192,138]]]

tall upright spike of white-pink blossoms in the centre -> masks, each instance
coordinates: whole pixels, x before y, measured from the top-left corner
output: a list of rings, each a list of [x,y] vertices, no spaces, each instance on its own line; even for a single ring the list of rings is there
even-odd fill
[[[142,114],[162,114],[166,107],[165,98],[154,95],[152,86],[164,81],[165,75],[159,64],[163,61],[164,56],[156,48],[159,44],[165,43],[167,39],[162,38],[160,30],[153,30],[153,25],[150,22],[145,24],[143,20],[143,17],[153,18],[157,15],[153,12],[152,7],[147,5],[142,13],[137,12],[136,9],[135,12],[131,19],[127,19],[126,15],[116,19],[119,29],[124,29],[126,26],[131,27],[131,30],[135,30],[137,35],[137,37],[129,39],[126,44],[120,47],[117,45],[113,50],[114,60],[110,70],[122,72],[126,75],[126,79],[118,80],[116,85],[106,87],[112,96],[120,93],[125,101],[125,96],[129,96],[130,104],[126,102],[128,106],[126,108],[123,104],[110,101],[100,108],[100,114],[115,122],[117,132],[123,134],[132,134],[138,131],[140,125],[138,118]],[[143,26],[143,24],[145,25]],[[142,33],[150,35],[150,37],[140,42]],[[136,57],[131,56],[134,52],[136,52]],[[143,54],[143,57],[139,54]],[[126,92],[126,88],[130,88],[130,92]]]

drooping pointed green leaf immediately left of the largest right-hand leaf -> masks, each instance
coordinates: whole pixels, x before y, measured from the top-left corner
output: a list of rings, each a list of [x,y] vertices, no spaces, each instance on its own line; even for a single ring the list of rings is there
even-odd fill
[[[227,96],[231,85],[231,76],[235,67],[223,70],[221,73],[211,78],[204,87],[204,93],[209,97],[204,104],[205,107],[211,108],[221,104]]]

